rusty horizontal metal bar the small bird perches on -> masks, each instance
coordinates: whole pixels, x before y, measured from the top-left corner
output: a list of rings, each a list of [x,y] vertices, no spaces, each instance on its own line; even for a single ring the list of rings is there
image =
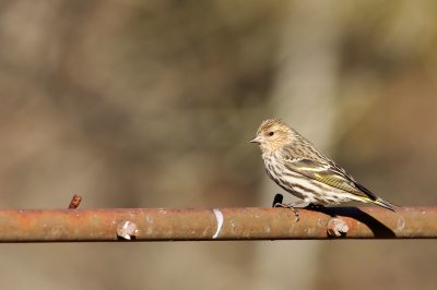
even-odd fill
[[[436,207],[3,209],[0,242],[435,239]]]

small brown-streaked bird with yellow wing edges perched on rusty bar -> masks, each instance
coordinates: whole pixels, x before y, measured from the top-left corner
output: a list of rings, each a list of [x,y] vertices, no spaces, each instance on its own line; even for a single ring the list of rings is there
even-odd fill
[[[299,218],[296,205],[330,205],[350,201],[370,203],[394,212],[393,204],[383,201],[357,183],[343,168],[320,153],[308,140],[280,119],[261,123],[251,143],[261,148],[265,171],[285,191],[302,198],[288,207]]]

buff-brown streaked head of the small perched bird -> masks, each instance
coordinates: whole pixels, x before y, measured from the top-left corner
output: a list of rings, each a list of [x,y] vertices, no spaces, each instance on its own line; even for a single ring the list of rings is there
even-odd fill
[[[268,119],[258,128],[255,138],[263,153],[274,152],[293,140],[293,130],[280,119]]]

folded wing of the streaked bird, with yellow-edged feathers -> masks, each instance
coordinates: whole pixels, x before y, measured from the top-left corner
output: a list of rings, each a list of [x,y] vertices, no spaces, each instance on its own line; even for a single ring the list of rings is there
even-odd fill
[[[296,173],[319,181],[332,188],[362,195],[370,200],[377,198],[369,190],[356,183],[344,169],[333,162],[321,162],[310,159],[286,159],[285,167]]]

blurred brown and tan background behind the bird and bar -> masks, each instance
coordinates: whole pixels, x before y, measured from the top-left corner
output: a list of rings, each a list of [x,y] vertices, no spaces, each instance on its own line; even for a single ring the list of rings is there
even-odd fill
[[[0,207],[270,206],[280,117],[433,205],[437,2],[0,2]],[[287,198],[288,195],[286,196]],[[436,289],[434,241],[2,244],[2,289]]]

